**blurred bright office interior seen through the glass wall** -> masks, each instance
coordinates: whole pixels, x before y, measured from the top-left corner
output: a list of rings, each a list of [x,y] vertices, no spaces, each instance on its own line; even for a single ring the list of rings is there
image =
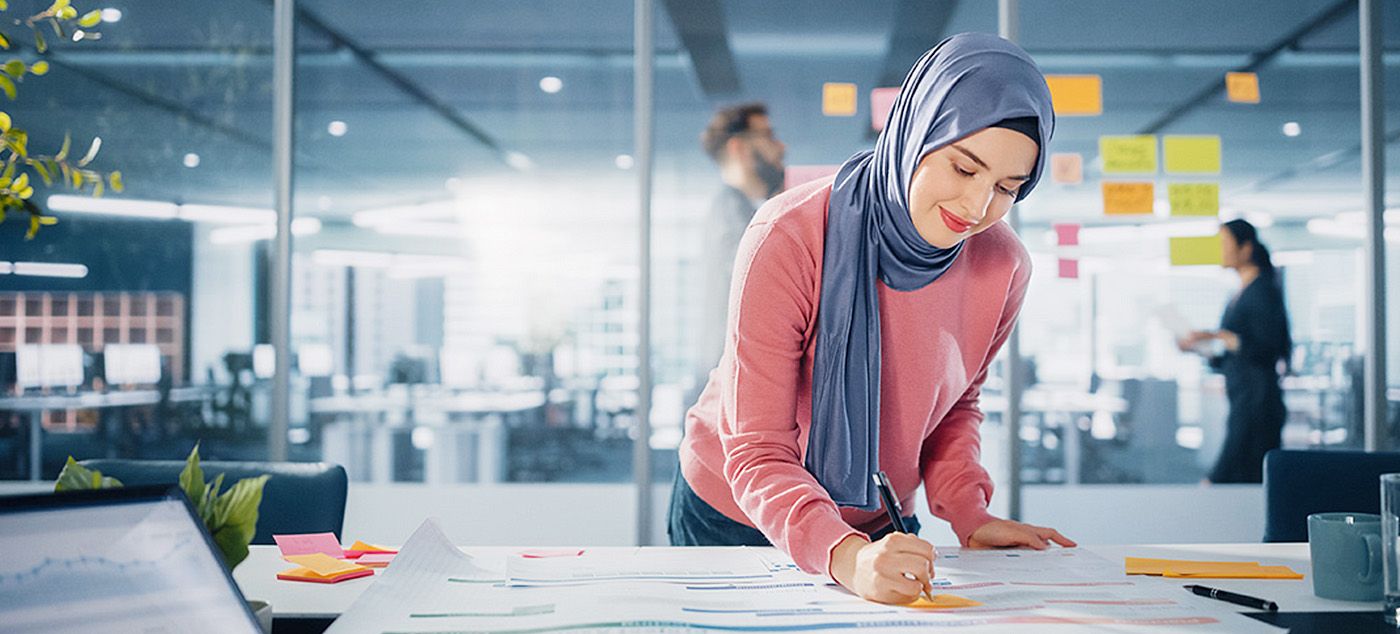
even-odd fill
[[[49,4],[13,0],[8,15]],[[640,442],[664,542],[703,362],[700,237],[718,174],[699,134],[714,108],[763,101],[790,167],[840,164],[874,143],[872,88],[897,85],[946,35],[998,28],[981,0],[655,3],[654,369],[638,438],[631,0],[298,1],[290,315],[272,308],[273,3],[77,4],[104,10],[101,39],[52,42],[50,71],[0,108],[32,148],[101,137],[94,167],[120,169],[126,190],[41,189],[59,224],[32,241],[24,218],[0,224],[0,479],[50,480],[69,455],[175,459],[196,441],[206,458],[267,459],[270,333],[290,319],[287,458],[344,465],[347,521],[379,540],[445,515],[477,542],[633,543]],[[1224,437],[1224,381],[1161,318],[1173,305],[1217,326],[1235,276],[1170,266],[1166,245],[1218,221],[1169,217],[1165,202],[1105,217],[1098,139],[1221,137],[1221,220],[1259,225],[1284,272],[1296,341],[1284,445],[1364,446],[1357,3],[1018,4],[1021,43],[1046,73],[1100,76],[1103,112],[1061,118],[1049,148],[1082,154],[1082,183],[1044,181],[1021,206],[1036,274],[1015,434],[1005,354],[983,392],[994,505],[1007,512],[1019,490],[1025,519],[1091,540],[1109,509],[1142,516],[1127,542],[1254,540],[1259,487],[1200,486]],[[14,39],[14,56],[41,59],[27,29]],[[1400,190],[1393,6],[1385,48],[1386,189]],[[1240,69],[1257,73],[1259,104],[1205,90]],[[854,116],[823,113],[826,83],[857,85]],[[1058,246],[1064,223],[1082,227],[1078,246]],[[1074,277],[1058,274],[1067,258]],[[29,262],[73,266],[8,265]],[[1386,279],[1400,295],[1394,253]],[[1176,519],[1211,508],[1210,525]],[[928,535],[951,540],[941,525]]]

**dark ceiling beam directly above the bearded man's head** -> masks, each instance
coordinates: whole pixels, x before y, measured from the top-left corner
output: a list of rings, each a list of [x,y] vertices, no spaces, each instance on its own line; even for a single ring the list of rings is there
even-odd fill
[[[734,63],[720,0],[665,0],[665,4],[706,97],[721,101],[738,95],[739,69]]]

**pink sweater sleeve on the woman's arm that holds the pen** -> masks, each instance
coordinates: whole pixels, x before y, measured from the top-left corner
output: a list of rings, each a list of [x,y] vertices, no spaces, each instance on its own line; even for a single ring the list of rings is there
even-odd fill
[[[820,260],[795,237],[755,224],[739,246],[729,294],[720,444],[739,509],[805,571],[830,577],[832,549],[850,535],[836,502],[802,466],[798,393],[815,322]]]

